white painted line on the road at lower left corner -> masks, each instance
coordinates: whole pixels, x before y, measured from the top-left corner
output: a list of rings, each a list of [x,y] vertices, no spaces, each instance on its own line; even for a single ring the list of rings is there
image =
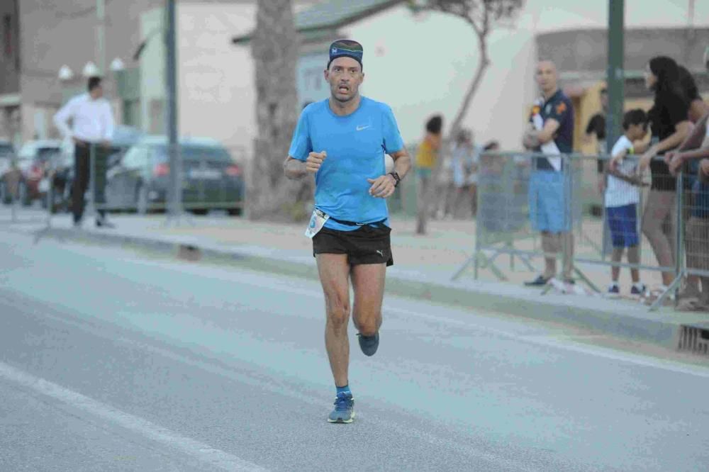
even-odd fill
[[[254,463],[240,459],[233,454],[215,449],[208,446],[208,444],[190,439],[189,437],[180,436],[167,428],[155,425],[143,418],[117,410],[110,405],[86,397],[81,393],[74,392],[56,383],[15,369],[13,366],[9,366],[4,362],[0,362],[0,377],[18,383],[23,387],[30,388],[41,395],[54,398],[74,408],[88,412],[91,415],[101,417],[104,420],[108,420],[125,429],[138,433],[147,439],[168,446],[171,449],[177,449],[187,456],[191,456],[203,463],[208,463],[211,466],[222,468],[225,471],[267,470]]]

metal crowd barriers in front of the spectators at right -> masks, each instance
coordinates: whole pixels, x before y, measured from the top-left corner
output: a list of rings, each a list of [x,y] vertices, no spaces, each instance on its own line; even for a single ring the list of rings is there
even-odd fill
[[[621,168],[615,172],[615,182],[622,184],[612,190],[606,184],[601,194],[595,190],[599,180],[596,164],[601,160],[607,166],[608,156],[564,154],[554,162],[556,167],[549,165],[547,157],[528,152],[481,155],[474,254],[452,279],[459,278],[472,265],[476,279],[479,271],[487,269],[505,280],[505,271],[498,264],[503,255],[510,257],[510,270],[515,270],[515,261],[519,261],[527,270],[537,272],[540,268],[535,267],[533,259],[545,254],[560,255],[563,276],[573,276],[596,292],[605,291],[605,287],[586,276],[579,264],[607,267],[609,282],[611,267],[645,274],[664,272],[665,277],[671,274],[672,282],[655,295],[651,306],[654,310],[678,291],[687,276],[709,276],[709,214],[705,214],[709,212],[709,195],[692,190],[691,177],[685,172],[676,176],[656,173],[652,180],[649,169],[646,177],[640,179]],[[663,157],[655,160],[664,162]],[[637,157],[626,157],[626,170],[635,164]],[[609,201],[605,202],[605,198]],[[698,198],[705,198],[706,202]],[[601,218],[588,212],[594,202],[603,208]],[[540,205],[554,209],[552,221],[545,221],[549,215],[537,211]],[[552,224],[562,232],[568,230],[573,240],[562,238],[557,254],[545,253],[540,232],[533,223]],[[637,248],[632,262],[627,260],[627,247]],[[613,254],[621,248],[625,248],[625,254],[618,260],[618,254]],[[664,264],[657,259],[658,252],[664,254]]]

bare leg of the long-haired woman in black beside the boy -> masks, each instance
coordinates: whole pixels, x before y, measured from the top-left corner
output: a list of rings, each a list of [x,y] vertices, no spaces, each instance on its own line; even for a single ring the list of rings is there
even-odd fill
[[[657,262],[663,267],[674,266],[670,239],[662,228],[665,220],[674,213],[672,206],[674,206],[674,192],[651,190],[642,216],[642,234],[647,237]],[[665,286],[669,286],[673,280],[674,271],[662,272],[662,283]]]

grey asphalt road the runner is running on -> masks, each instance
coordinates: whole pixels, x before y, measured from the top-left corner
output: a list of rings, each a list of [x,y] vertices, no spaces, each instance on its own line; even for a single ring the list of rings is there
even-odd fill
[[[0,261],[0,471],[709,468],[706,365],[389,297],[330,425],[312,281],[2,230]]]

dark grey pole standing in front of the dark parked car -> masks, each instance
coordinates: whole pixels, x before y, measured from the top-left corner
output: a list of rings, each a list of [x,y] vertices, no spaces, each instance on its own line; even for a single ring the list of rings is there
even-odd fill
[[[182,215],[182,159],[177,139],[177,47],[175,0],[165,0],[165,93],[166,128],[170,165],[169,218],[179,220]]]

